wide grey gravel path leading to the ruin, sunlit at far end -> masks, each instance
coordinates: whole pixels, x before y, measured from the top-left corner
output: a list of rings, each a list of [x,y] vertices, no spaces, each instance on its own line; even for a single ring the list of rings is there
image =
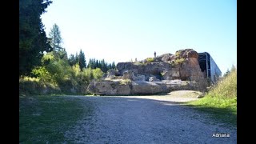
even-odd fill
[[[175,102],[194,100],[195,93],[178,91],[160,96],[84,97],[94,114],[82,118],[66,138],[76,143],[237,143],[235,128],[211,122]],[[214,138],[213,134],[230,134]]]

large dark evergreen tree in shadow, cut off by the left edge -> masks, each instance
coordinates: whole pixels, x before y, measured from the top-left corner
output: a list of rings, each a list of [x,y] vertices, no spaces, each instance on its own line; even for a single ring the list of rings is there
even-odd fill
[[[19,75],[28,75],[41,64],[43,52],[52,49],[47,40],[41,14],[50,0],[19,0]]]

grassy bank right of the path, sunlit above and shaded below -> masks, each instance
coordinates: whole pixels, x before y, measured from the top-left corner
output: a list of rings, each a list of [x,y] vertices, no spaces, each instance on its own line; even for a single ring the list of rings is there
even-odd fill
[[[187,106],[193,106],[210,114],[219,122],[232,126],[237,124],[237,70],[233,67],[230,74],[222,78],[206,96],[198,101],[186,102]]]

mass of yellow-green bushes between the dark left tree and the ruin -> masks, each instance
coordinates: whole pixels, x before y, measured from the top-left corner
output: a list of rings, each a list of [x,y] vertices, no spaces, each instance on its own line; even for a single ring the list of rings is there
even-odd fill
[[[32,70],[32,74],[38,79],[35,81],[20,81],[20,88],[23,91],[29,91],[32,87],[40,87],[27,94],[46,94],[59,90],[62,94],[86,94],[86,87],[93,79],[102,78],[101,69],[83,68],[79,64],[70,66],[70,62],[66,58],[62,58],[62,51],[52,51],[42,57],[43,66],[37,66]],[[34,84],[33,84],[34,83]],[[55,86],[54,90],[52,87]],[[26,88],[26,86],[28,86]],[[38,93],[37,93],[38,90]],[[49,92],[49,93],[47,93]]]

